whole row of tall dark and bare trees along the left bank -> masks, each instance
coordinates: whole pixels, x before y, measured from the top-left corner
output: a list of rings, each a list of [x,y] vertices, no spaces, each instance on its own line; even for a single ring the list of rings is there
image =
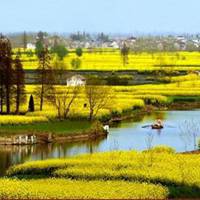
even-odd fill
[[[37,87],[34,91],[34,96],[39,99],[39,109],[44,109],[45,100],[57,110],[59,119],[67,119],[69,112],[75,100],[83,92],[83,87],[78,85],[73,87],[64,87],[64,90],[59,90],[55,86],[61,80],[62,70],[52,67],[52,56],[41,40],[41,49],[37,52],[38,68],[37,68]],[[112,99],[111,89],[104,86],[103,83],[99,86],[96,80],[88,80],[88,84],[84,88],[86,103],[81,109],[89,109],[89,120],[93,120],[100,109],[105,108]],[[25,91],[25,73],[22,63],[18,56],[13,58],[11,43],[8,38],[0,36],[0,113],[10,114],[11,105],[15,104],[15,113],[20,114],[20,106],[26,100]],[[33,95],[29,99],[29,111],[34,111]],[[5,109],[5,110],[4,110]]]

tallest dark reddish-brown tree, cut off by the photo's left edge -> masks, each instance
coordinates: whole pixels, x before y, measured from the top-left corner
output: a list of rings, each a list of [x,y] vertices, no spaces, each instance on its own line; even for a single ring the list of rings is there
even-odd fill
[[[12,60],[12,48],[8,38],[0,36],[0,82],[1,82],[1,112],[3,99],[5,98],[6,112],[10,113],[11,95],[14,87],[14,70]]]

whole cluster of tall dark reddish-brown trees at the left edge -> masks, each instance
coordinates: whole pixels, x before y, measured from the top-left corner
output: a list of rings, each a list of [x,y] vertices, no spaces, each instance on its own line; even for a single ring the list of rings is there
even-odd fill
[[[0,35],[0,113],[10,114],[13,103],[15,112],[19,113],[20,103],[25,97],[24,82],[25,73],[20,59],[17,56],[12,58],[10,41]]]

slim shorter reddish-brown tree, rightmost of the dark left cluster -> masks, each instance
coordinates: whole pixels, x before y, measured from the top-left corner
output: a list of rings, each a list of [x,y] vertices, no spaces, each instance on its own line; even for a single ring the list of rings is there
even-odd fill
[[[16,86],[16,110],[19,113],[20,104],[25,100],[25,72],[18,57],[15,59],[15,86]]]

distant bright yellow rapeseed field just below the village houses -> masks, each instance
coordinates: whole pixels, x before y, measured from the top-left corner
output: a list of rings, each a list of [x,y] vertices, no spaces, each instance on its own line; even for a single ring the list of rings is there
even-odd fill
[[[14,50],[17,52],[17,49]],[[64,58],[66,69],[73,69],[71,61],[76,54],[70,52]],[[31,57],[21,55],[24,69],[36,69],[38,60],[36,55]],[[199,70],[199,52],[156,52],[156,53],[130,53],[128,64],[124,66],[119,50],[113,51],[84,51],[80,57],[81,66],[77,70]],[[53,61],[52,61],[53,64]]]

